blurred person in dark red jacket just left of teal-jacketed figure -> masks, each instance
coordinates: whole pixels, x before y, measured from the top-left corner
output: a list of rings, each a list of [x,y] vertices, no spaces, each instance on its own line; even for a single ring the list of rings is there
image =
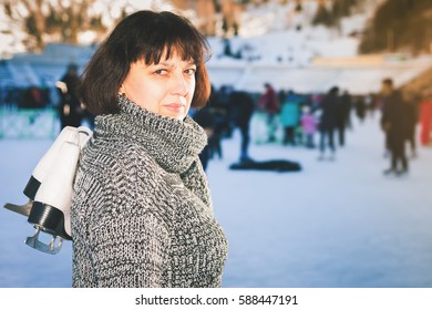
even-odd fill
[[[258,107],[267,113],[268,142],[276,141],[276,115],[279,113],[279,101],[270,83],[264,84],[266,91],[258,100]]]

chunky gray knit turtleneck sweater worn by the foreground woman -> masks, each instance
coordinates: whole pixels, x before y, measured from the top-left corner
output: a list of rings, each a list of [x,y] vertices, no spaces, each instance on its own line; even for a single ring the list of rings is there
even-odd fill
[[[198,159],[204,131],[119,104],[96,117],[76,173],[73,287],[219,287],[227,241]]]

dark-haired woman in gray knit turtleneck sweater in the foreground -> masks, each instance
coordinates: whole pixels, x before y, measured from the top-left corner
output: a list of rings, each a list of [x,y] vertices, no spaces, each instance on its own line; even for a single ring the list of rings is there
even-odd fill
[[[191,117],[209,95],[205,38],[171,12],[119,23],[84,71],[95,128],[71,207],[73,287],[219,287],[227,255]]]

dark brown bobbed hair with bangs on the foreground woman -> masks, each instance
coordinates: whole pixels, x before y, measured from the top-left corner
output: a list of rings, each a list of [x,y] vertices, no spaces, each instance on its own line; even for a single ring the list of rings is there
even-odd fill
[[[131,64],[150,65],[177,53],[196,64],[193,107],[207,103],[210,83],[205,62],[210,55],[207,40],[185,18],[172,12],[138,11],[123,19],[102,42],[83,72],[80,96],[94,115],[115,114],[119,89]]]

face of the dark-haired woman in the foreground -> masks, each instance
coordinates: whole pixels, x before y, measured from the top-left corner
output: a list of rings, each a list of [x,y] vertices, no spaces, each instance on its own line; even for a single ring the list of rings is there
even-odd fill
[[[141,107],[162,116],[184,120],[195,91],[196,65],[177,54],[157,64],[137,61],[131,69],[120,91]]]

